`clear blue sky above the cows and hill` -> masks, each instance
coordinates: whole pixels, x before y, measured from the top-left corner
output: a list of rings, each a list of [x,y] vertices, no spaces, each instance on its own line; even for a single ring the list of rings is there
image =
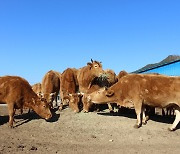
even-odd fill
[[[31,84],[49,70],[135,71],[180,55],[178,0],[0,0],[0,76]]]

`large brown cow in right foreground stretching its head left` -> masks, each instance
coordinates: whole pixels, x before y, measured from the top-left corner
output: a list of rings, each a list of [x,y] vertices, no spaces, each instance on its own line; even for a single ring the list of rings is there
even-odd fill
[[[137,115],[135,128],[147,122],[146,105],[160,108],[171,106],[176,114],[169,128],[173,131],[180,121],[180,77],[128,74],[110,88],[103,88],[89,94],[88,100],[96,104],[116,102],[120,106],[134,108]]]

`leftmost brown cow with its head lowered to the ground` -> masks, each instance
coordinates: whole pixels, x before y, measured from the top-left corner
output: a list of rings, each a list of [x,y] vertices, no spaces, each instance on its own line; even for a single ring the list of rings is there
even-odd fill
[[[40,99],[28,81],[19,76],[0,77],[0,104],[8,105],[11,128],[16,109],[30,108],[46,120],[52,117],[48,103]]]

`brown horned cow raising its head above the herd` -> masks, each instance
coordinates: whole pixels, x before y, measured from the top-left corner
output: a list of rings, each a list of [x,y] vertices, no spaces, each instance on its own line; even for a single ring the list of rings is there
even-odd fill
[[[92,81],[100,77],[103,74],[102,64],[98,61],[88,62],[86,66],[78,69],[77,81],[79,85],[79,92],[81,94],[87,94],[92,86]],[[89,111],[89,105],[87,104],[86,97],[82,97],[83,111]]]

